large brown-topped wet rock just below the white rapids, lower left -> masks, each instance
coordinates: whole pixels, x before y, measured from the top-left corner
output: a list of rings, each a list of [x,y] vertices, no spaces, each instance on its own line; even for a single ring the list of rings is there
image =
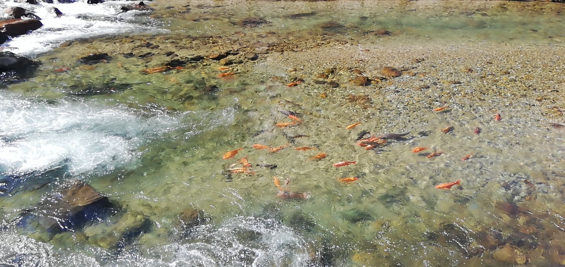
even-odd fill
[[[20,215],[18,226],[36,226],[57,234],[80,229],[86,222],[114,213],[114,205],[92,186],[74,180]],[[34,229],[38,230],[38,229]]]

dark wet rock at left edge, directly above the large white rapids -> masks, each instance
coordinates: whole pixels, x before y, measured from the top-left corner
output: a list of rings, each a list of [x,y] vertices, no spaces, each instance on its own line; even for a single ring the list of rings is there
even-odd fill
[[[32,77],[40,63],[17,56],[11,52],[0,52],[0,81],[16,81]]]

